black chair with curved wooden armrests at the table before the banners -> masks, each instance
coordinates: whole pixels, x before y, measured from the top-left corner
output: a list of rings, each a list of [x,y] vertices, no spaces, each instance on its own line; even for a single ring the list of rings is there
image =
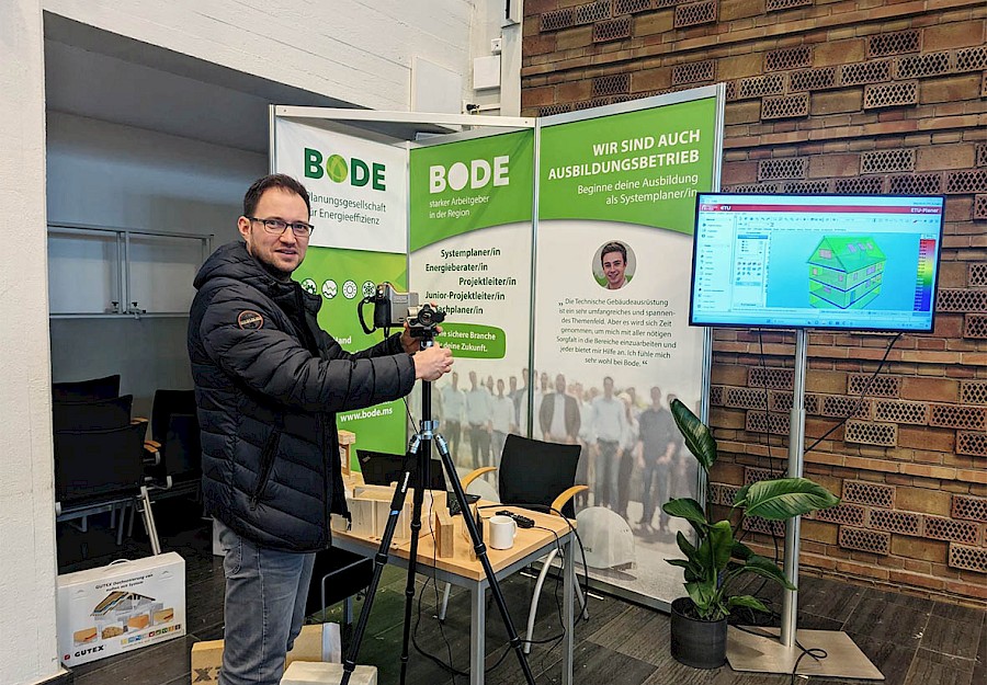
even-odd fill
[[[561,512],[566,518],[576,518],[576,510],[572,506],[572,498],[587,490],[586,486],[577,486],[576,467],[579,464],[579,445],[563,445],[558,443],[545,443],[538,439],[521,437],[513,433],[508,435],[503,444],[503,453],[500,457],[500,502],[514,506],[525,506],[535,511],[544,511],[558,515]],[[479,471],[494,470],[491,467],[478,469]],[[469,478],[469,477],[467,477]],[[534,632],[535,616],[538,613],[538,600],[542,595],[542,585],[548,569],[558,555],[553,549],[541,559],[542,570],[538,573],[534,592],[531,597],[531,608],[527,612],[527,640],[524,643],[524,652],[531,652],[531,642]],[[449,603],[450,587],[446,584],[442,597],[442,606],[439,609],[439,618],[445,618],[445,608]],[[586,608],[586,597],[582,589],[576,584],[576,596],[582,607],[585,617],[589,617]]]

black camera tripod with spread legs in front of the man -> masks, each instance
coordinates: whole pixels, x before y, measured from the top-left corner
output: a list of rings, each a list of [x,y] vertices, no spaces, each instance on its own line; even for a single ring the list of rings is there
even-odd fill
[[[422,349],[432,344],[431,332],[422,338]],[[424,490],[428,488],[430,480],[430,465],[432,441],[439,448],[439,456],[442,458],[442,467],[445,469],[446,479],[452,488],[452,494],[455,494],[456,501],[460,503],[460,511],[463,512],[463,521],[466,529],[469,532],[469,539],[473,540],[473,549],[476,557],[484,567],[484,573],[487,582],[490,583],[490,594],[497,602],[497,608],[503,618],[503,625],[507,628],[510,644],[518,654],[518,661],[521,662],[521,671],[524,673],[524,680],[529,685],[534,685],[534,675],[527,665],[527,658],[522,649],[521,638],[514,629],[511,616],[508,613],[507,602],[504,602],[503,593],[500,591],[500,583],[494,574],[494,568],[487,558],[487,546],[476,528],[476,522],[469,515],[469,505],[466,501],[466,492],[463,490],[463,483],[456,473],[455,464],[449,454],[449,445],[445,438],[435,431],[438,422],[432,421],[432,384],[422,381],[421,384],[421,431],[411,437],[408,445],[408,453],[405,455],[405,461],[401,465],[401,476],[394,491],[394,499],[390,501],[390,513],[387,516],[387,525],[384,527],[384,537],[381,539],[381,547],[374,556],[374,575],[370,586],[366,590],[366,601],[363,609],[360,612],[360,619],[356,621],[356,628],[353,630],[353,642],[343,660],[343,676],[340,685],[349,685],[350,676],[356,669],[356,655],[360,652],[360,643],[363,641],[363,632],[366,629],[370,619],[371,607],[374,603],[374,596],[377,593],[377,585],[381,582],[381,574],[387,564],[387,552],[390,549],[390,541],[397,529],[398,516],[405,506],[405,499],[408,494],[408,487],[412,483],[411,471],[417,465],[417,477],[415,486],[415,495],[411,499],[411,549],[408,558],[408,584],[405,587],[405,633],[401,641],[401,685],[405,683],[405,675],[408,670],[408,647],[411,638],[411,608],[415,601],[415,573],[418,567],[418,534],[421,530],[421,505],[424,500]],[[435,543],[438,544],[438,541]]]

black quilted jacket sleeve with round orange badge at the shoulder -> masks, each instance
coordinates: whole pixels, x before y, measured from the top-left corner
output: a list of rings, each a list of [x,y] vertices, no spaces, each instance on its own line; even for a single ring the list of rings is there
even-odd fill
[[[390,339],[351,355],[331,342],[338,354],[313,355],[282,330],[270,300],[241,288],[220,290],[207,306],[200,334],[206,354],[239,381],[275,401],[305,411],[339,412],[372,407],[404,397],[415,385],[415,364],[405,352],[390,353]],[[242,311],[261,315],[257,329],[242,329]],[[280,313],[280,312],[279,312]],[[397,343],[400,349],[400,343]]]

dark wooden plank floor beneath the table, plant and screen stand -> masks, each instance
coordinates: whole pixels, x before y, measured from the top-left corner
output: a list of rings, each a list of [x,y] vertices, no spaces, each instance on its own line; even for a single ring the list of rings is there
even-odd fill
[[[186,685],[191,682],[190,650],[197,640],[223,633],[223,568],[211,552],[211,528],[198,518],[194,503],[162,502],[157,521],[166,551],[178,551],[186,562],[188,632],[155,647],[83,664],[73,669],[77,685]],[[149,553],[146,540],[116,547],[99,520],[86,534],[59,524],[59,572],[102,566],[115,558]],[[398,682],[404,618],[404,573],[385,570],[382,590],[360,654],[360,663],[379,669],[379,682]],[[757,583],[755,589],[757,589]],[[518,575],[503,586],[511,616],[519,626],[527,615],[534,581]],[[421,618],[417,642],[458,669],[468,664],[469,614],[465,594],[454,594],[442,627],[434,619],[438,592],[419,582]],[[535,627],[535,639],[551,639],[559,631],[559,606],[554,582],[546,582]],[[774,598],[767,592],[768,598]],[[765,596],[762,593],[761,596]],[[358,602],[358,610],[360,603]],[[696,671],[669,655],[668,616],[612,597],[590,598],[590,619],[576,628],[575,682],[580,685],[782,685],[791,676],[742,674],[724,666]],[[341,607],[328,618],[339,620]],[[487,682],[491,685],[523,683],[515,654],[496,606],[488,609]],[[987,683],[987,613],[929,600],[804,576],[799,593],[799,628],[846,630],[884,673],[887,685],[984,685]],[[313,617],[317,620],[318,617]],[[443,637],[444,636],[444,637]],[[446,644],[447,642],[447,644]],[[501,657],[503,659],[501,660]],[[536,682],[558,683],[561,646],[557,640],[535,644],[530,663]],[[498,663],[499,662],[499,663]],[[468,683],[455,681],[440,666],[412,651],[408,683]],[[858,684],[863,681],[798,678],[808,685]]]

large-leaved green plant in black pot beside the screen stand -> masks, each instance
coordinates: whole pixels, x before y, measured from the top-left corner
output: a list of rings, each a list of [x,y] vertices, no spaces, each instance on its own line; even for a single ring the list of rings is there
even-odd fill
[[[710,429],[679,400],[671,403],[672,416],[685,439],[689,452],[699,461],[708,480],[716,463],[716,441]],[[745,516],[785,521],[809,512],[828,509],[839,499],[807,478],[779,478],[744,486],[734,496],[729,514],[713,521],[710,507],[691,498],[671,500],[663,505],[670,516],[684,518],[695,530],[695,544],[679,532],[676,539],[684,559],[667,561],[682,569],[689,596],[672,602],[671,652],[685,665],[716,669],[726,662],[727,616],[736,607],[767,612],[750,595],[730,594],[737,579],[753,573],[787,590],[795,590],[778,564],[753,553],[735,537]],[[736,514],[736,524],[731,518]]]

